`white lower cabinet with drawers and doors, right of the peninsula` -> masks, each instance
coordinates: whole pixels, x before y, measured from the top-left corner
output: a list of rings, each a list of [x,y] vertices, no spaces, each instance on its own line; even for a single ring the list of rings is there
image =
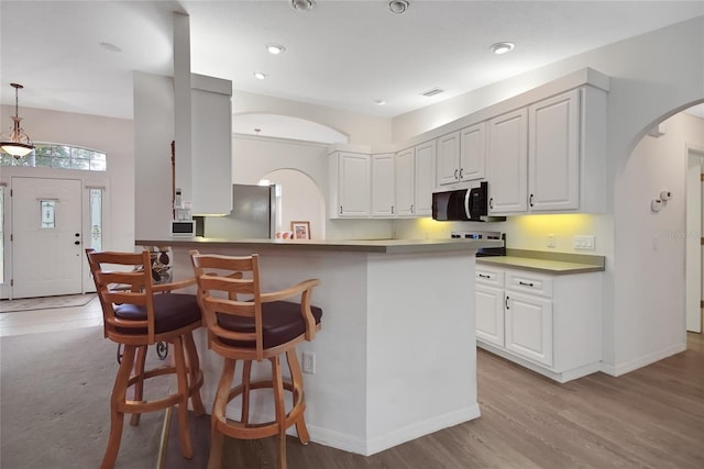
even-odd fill
[[[476,343],[565,382],[601,367],[601,272],[476,266]]]

